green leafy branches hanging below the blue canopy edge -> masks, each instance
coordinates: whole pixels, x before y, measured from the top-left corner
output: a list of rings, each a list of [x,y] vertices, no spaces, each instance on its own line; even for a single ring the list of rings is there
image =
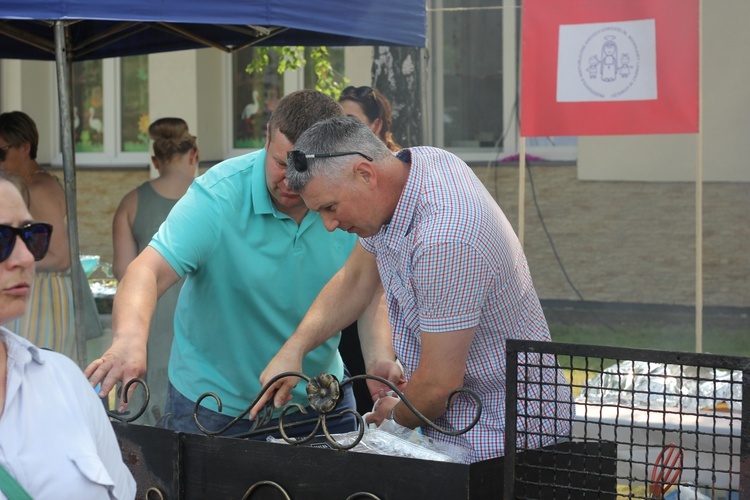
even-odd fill
[[[333,68],[330,53],[327,47],[309,47],[307,58],[304,47],[256,47],[255,57],[247,65],[245,71],[248,74],[262,73],[270,64],[270,51],[279,56],[279,74],[287,71],[296,71],[306,64],[310,64],[315,73],[315,90],[330,95],[337,99],[349,79],[339,75]]]

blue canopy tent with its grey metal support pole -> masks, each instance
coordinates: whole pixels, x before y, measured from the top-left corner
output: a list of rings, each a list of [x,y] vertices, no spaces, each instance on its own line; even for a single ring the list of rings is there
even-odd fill
[[[4,0],[0,58],[55,60],[70,254],[79,254],[70,65],[73,61],[252,45],[425,47],[425,0]],[[71,259],[79,359],[83,290]]]

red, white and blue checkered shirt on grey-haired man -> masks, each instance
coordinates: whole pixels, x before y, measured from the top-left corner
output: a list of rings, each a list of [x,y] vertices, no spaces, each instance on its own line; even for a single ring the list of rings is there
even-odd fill
[[[476,329],[464,387],[481,397],[482,417],[460,436],[428,427],[423,428],[425,434],[470,448],[466,462],[501,456],[505,341],[550,340],[547,322],[520,242],[469,166],[447,151],[430,147],[404,150],[400,158],[408,161],[409,152],[411,172],[391,222],[360,241],[376,255],[394,348],[407,378],[419,362],[420,332]],[[523,447],[547,445],[569,430],[569,388],[559,370],[542,373],[541,384],[519,385],[519,397],[524,387],[542,392],[526,395],[531,402],[525,402],[524,413],[536,418],[518,420],[518,444]],[[475,406],[473,399],[461,394],[435,423],[450,430],[465,428],[474,418]]]

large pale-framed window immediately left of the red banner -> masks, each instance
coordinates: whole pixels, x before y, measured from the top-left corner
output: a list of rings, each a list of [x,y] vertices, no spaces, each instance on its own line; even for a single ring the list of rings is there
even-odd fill
[[[466,161],[518,152],[521,0],[428,0],[433,143]],[[577,137],[527,138],[529,154],[571,160]]]

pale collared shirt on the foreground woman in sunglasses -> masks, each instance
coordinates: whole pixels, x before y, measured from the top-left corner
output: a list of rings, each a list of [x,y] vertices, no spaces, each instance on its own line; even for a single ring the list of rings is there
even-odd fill
[[[8,351],[0,464],[33,498],[135,498],[109,418],[78,366],[2,327],[0,340]]]

